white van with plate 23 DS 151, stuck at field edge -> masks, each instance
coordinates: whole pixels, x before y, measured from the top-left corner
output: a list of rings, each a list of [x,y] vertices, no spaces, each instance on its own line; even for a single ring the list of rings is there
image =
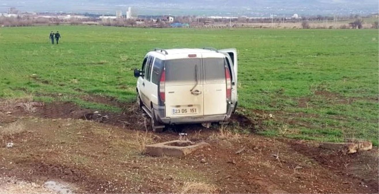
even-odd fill
[[[235,48],[157,48],[134,70],[137,103],[153,131],[167,124],[226,122],[238,104],[237,67]]]

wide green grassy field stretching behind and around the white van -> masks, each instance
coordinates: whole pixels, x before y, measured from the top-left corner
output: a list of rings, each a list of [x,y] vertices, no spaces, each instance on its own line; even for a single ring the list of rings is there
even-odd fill
[[[59,30],[59,45],[49,43]],[[88,102],[135,98],[133,68],[155,47],[238,49],[239,111],[272,113],[258,133],[379,146],[379,31],[374,29],[0,28],[0,98]],[[58,95],[59,94],[59,95]]]

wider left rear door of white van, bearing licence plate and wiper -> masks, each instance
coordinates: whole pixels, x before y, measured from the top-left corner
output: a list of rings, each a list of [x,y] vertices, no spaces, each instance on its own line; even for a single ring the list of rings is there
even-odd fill
[[[201,54],[177,58],[165,61],[166,117],[204,115]]]

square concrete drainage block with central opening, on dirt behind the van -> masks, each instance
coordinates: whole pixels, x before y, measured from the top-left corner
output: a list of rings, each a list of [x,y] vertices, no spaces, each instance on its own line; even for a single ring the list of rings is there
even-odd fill
[[[193,143],[192,141],[174,140],[163,143],[156,143],[146,146],[146,151],[152,156],[176,156],[183,157],[191,152],[209,146],[207,143]]]

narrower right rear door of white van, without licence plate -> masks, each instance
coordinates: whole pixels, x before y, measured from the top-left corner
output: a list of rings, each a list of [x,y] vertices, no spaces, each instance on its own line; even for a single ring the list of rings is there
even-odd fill
[[[220,53],[203,53],[204,115],[226,114],[225,56]]]

